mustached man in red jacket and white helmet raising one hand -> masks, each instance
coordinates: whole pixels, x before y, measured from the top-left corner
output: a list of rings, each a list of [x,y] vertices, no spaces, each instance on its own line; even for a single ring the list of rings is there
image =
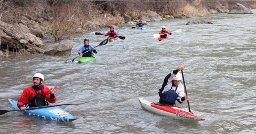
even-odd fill
[[[20,99],[18,99],[17,106],[20,108],[20,110],[26,110],[26,104],[28,104],[29,107],[37,107],[48,105],[47,101],[50,103],[56,102],[54,93],[58,90],[58,87],[54,86],[53,88],[49,89],[45,85],[42,85],[43,82],[44,75],[41,73],[36,73],[33,76],[34,85],[25,88]]]

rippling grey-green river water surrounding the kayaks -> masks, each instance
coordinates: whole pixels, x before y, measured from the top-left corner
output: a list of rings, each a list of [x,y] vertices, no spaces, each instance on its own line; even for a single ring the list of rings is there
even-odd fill
[[[98,45],[109,29],[99,29],[72,39],[71,56],[31,54],[1,58],[0,109],[13,109],[32,75],[45,76],[44,85],[58,85],[57,103],[78,119],[61,123],[29,117],[20,112],[0,116],[0,133],[40,134],[254,134],[256,131],[256,10],[254,14],[213,14],[206,17],[150,22],[146,30],[126,25],[116,28],[126,39],[98,46],[91,63],[64,63],[78,55],[83,39]],[[189,20],[213,24],[185,25]],[[157,41],[162,26],[180,33]],[[205,118],[185,122],[142,108],[138,98],[158,101],[164,77],[183,65],[190,108]],[[188,109],[186,102],[177,104]]]

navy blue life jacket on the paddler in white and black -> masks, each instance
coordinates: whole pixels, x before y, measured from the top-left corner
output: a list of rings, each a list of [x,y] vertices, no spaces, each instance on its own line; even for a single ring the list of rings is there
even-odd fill
[[[160,103],[170,104],[170,105],[175,104],[176,98],[178,97],[178,94],[176,93],[178,86],[176,87],[175,90],[172,90],[172,87],[169,91],[166,91],[161,95],[160,100],[159,100]]]

